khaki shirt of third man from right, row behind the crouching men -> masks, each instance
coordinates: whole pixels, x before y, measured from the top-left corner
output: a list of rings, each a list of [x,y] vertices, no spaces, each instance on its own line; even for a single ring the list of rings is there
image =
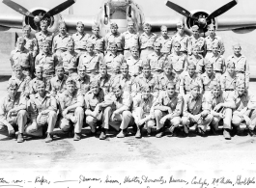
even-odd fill
[[[180,76],[180,93],[186,94],[190,92],[190,87],[193,82],[197,82],[200,84],[201,88],[203,88],[203,84],[198,73],[194,73],[192,77],[190,77],[187,71],[184,71]]]

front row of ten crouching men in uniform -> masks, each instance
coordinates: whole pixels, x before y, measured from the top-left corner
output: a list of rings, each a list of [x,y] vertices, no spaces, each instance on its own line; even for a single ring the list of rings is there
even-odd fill
[[[58,74],[58,70],[56,72]],[[55,127],[60,127],[64,132],[73,132],[73,140],[78,141],[83,125],[89,125],[93,134],[100,126],[100,140],[106,138],[109,126],[119,131],[118,138],[128,134],[128,126],[136,128],[135,138],[141,138],[143,127],[148,133],[156,127],[156,137],[160,138],[166,128],[170,135],[177,129],[187,136],[189,127],[194,126],[197,133],[204,136],[208,127],[216,134],[219,121],[223,120],[225,139],[231,139],[231,130],[238,131],[242,122],[248,133],[254,136],[256,98],[248,94],[242,79],[237,81],[235,91],[223,91],[219,82],[212,81],[207,86],[209,90],[202,93],[202,83],[194,80],[185,94],[177,92],[175,81],[162,84],[157,94],[150,82],[138,84],[139,91],[133,94],[122,86],[122,81],[116,81],[111,92],[105,92],[100,83],[102,75],[100,78],[96,76],[84,88],[77,87],[76,79],[59,73],[62,73],[62,80],[51,83],[51,87],[57,84],[58,93],[54,89],[48,93],[46,82],[38,79],[32,82],[34,86],[31,87],[36,92],[29,97],[18,92],[22,82],[13,77],[10,79],[8,95],[0,104],[2,133],[8,131],[12,137],[18,131],[17,142],[21,143],[24,134],[39,136],[46,129],[45,142],[48,143],[53,140]],[[78,72],[79,75],[82,73]],[[58,76],[57,80],[60,79]],[[54,82],[54,78],[51,82]],[[143,78],[139,80],[143,81]],[[63,82],[66,84],[65,90],[62,88]]]

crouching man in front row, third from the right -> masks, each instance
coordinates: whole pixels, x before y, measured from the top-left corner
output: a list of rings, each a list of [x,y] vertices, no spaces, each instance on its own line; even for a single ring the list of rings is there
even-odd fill
[[[200,85],[197,82],[191,84],[190,94],[185,94],[184,111],[182,124],[184,126],[185,135],[188,135],[189,126],[195,124],[199,135],[206,134],[207,126],[213,121],[213,115],[208,108],[202,106],[203,96],[200,93]]]

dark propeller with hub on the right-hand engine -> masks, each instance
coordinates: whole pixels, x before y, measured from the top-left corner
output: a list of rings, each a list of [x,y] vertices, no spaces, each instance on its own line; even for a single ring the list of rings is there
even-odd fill
[[[219,9],[215,10],[213,13],[205,17],[205,15],[194,16],[192,13],[188,12],[184,8],[171,1],[166,1],[166,6],[171,8],[172,10],[176,11],[177,13],[181,13],[186,17],[191,18],[194,21],[194,24],[197,24],[200,29],[206,30],[207,25],[212,23],[212,19],[221,15],[222,13],[226,13],[235,5],[238,4],[238,0],[232,0],[231,2],[227,3],[226,5],[220,7]]]

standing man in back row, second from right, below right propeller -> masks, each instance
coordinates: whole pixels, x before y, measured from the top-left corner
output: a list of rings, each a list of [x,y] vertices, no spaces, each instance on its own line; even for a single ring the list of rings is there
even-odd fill
[[[203,37],[199,35],[199,27],[197,25],[193,25],[191,27],[193,35],[188,38],[187,51],[188,55],[192,54],[192,47],[198,45],[200,47],[200,55],[205,55],[206,42]]]

